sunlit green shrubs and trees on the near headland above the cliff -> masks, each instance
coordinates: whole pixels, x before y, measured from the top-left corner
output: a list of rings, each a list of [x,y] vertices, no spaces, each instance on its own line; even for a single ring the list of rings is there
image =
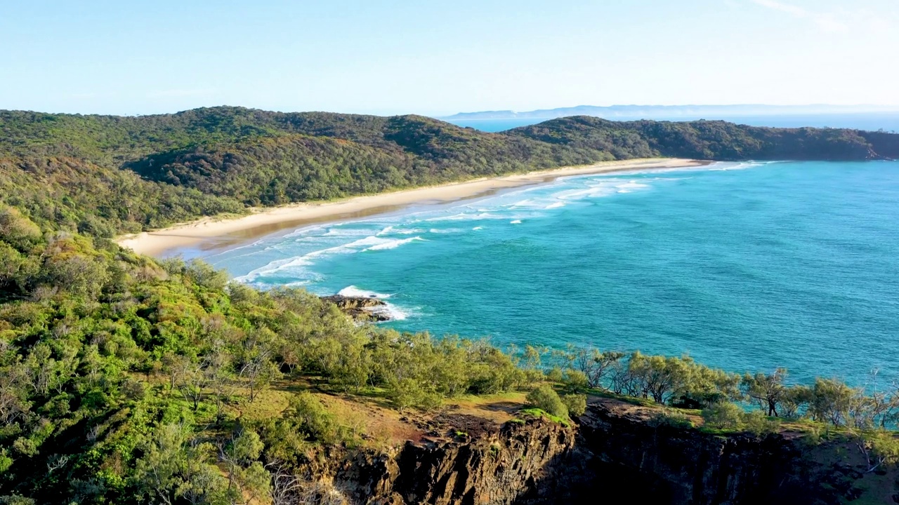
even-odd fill
[[[526,391],[522,415],[558,421],[583,414],[586,394],[607,394],[699,412],[704,430],[830,426],[870,453],[872,469],[897,454],[892,386],[794,385],[785,370],[741,376],[639,352],[503,352],[360,326],[302,290],[257,291],[199,261],[156,261],[41,228],[15,208],[0,211],[0,251],[6,502],[271,500],[276,476],[307,462],[311,447],[370,443],[321,394],[426,412],[463,395]],[[276,391],[284,405],[264,411]]]

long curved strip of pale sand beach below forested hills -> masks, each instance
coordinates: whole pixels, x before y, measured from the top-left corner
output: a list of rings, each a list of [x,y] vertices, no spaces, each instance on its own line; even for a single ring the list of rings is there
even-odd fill
[[[234,218],[204,217],[153,232],[120,237],[117,242],[135,253],[162,255],[173,249],[200,247],[215,249],[239,244],[281,229],[323,223],[338,219],[364,217],[390,212],[414,204],[445,203],[492,194],[498,190],[550,182],[558,177],[591,173],[621,172],[649,168],[676,168],[707,164],[679,158],[649,158],[572,166],[542,172],[521,173],[440,186],[365,195],[327,202],[311,202],[273,208],[253,208],[248,216]]]

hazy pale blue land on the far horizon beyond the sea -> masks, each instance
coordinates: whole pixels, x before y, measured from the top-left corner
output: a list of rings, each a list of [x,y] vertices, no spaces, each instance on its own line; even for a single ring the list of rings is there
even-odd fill
[[[677,119],[677,118],[728,118],[745,116],[856,114],[872,112],[899,112],[896,106],[880,105],[578,105],[537,111],[479,111],[459,112],[441,120],[551,120],[569,116],[593,116],[606,119]]]

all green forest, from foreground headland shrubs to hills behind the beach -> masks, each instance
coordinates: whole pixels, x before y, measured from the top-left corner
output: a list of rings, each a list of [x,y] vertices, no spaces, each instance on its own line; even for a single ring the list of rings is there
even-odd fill
[[[487,134],[415,116],[0,112],[0,503],[298,503],[305,488],[282,494],[280,479],[302,483],[317,447],[379,447],[329,410],[323,398],[336,394],[428,412],[520,392],[521,416],[560,422],[583,413],[584,394],[629,397],[684,429],[697,428],[692,415],[703,430],[759,436],[786,421],[833,430],[872,467],[891,464],[892,389],[400,334],[304,291],[256,291],[110,237],[247,205],[612,158],[877,159],[896,137],[707,121],[570,118]]]

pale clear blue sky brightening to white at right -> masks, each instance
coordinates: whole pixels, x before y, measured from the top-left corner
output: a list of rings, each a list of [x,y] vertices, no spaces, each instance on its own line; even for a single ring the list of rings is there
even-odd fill
[[[899,0],[4,0],[0,108],[899,105]]]

